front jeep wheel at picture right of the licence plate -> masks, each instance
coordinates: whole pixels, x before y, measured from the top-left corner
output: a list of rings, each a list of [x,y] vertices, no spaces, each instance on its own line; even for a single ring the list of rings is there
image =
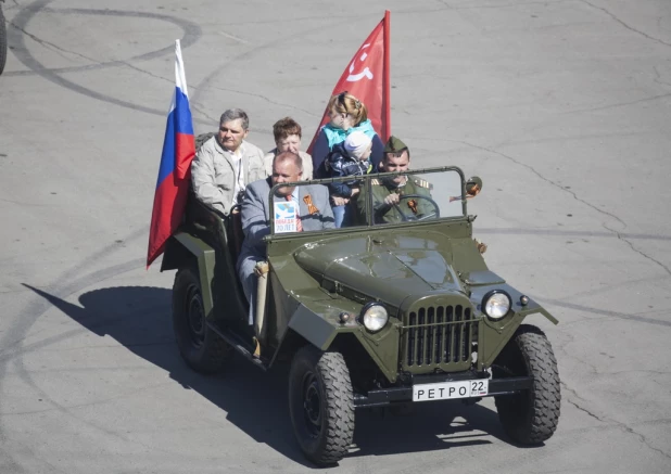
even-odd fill
[[[506,433],[521,445],[549,439],[557,430],[561,393],[557,360],[545,333],[533,325],[520,325],[496,358],[492,372],[494,379],[533,377],[529,390],[495,397]]]

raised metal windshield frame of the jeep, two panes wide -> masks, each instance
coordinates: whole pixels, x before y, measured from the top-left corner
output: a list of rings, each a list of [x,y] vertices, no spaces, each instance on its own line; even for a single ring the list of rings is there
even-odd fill
[[[384,180],[384,179],[389,179],[391,177],[396,177],[396,176],[430,175],[430,174],[440,174],[440,172],[447,172],[447,171],[455,171],[459,176],[459,180],[460,180],[459,201],[461,202],[461,215],[460,216],[439,217],[439,218],[430,219],[430,220],[407,220],[407,221],[383,222],[383,223],[375,222],[374,213],[372,213],[374,203],[372,203],[371,181]],[[432,168],[408,169],[405,171],[395,171],[395,172],[374,172],[370,175],[363,175],[363,176],[356,176],[356,177],[346,176],[346,177],[341,177],[341,178],[322,178],[322,179],[313,179],[313,180],[305,180],[305,181],[282,182],[282,183],[275,184],[270,188],[270,191],[268,192],[268,203],[274,202],[274,196],[276,195],[277,190],[280,188],[306,185],[306,184],[328,185],[330,183],[352,181],[353,178],[356,180],[360,180],[366,187],[366,197],[367,197],[366,200],[366,223],[359,223],[357,226],[334,228],[334,229],[328,229],[328,230],[321,230],[321,231],[311,231],[311,232],[306,232],[306,234],[316,234],[316,233],[324,233],[324,232],[329,232],[329,233],[347,232],[347,231],[352,232],[352,231],[359,231],[359,230],[380,229],[383,227],[384,228],[407,227],[407,226],[416,226],[418,223],[427,223],[427,222],[435,223],[435,222],[441,222],[445,220],[455,220],[455,219],[460,220],[460,219],[467,218],[468,216],[467,198],[466,198],[467,197],[466,196],[466,179],[464,176],[464,171],[457,166],[441,166],[441,167],[432,167]],[[291,235],[295,238],[296,234],[300,233],[300,232],[276,232],[275,231],[275,213],[270,212],[269,214],[270,214],[270,222],[269,222],[270,236],[273,236],[274,239],[283,238],[286,235]]]

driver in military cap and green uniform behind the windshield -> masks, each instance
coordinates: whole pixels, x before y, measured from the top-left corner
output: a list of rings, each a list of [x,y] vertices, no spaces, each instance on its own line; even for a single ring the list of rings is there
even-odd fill
[[[381,172],[407,171],[410,164],[410,151],[397,137],[391,136],[384,145],[384,154],[380,162]],[[430,215],[436,209],[430,201],[407,195],[431,197],[431,184],[413,175],[388,177],[370,180],[372,187],[372,209],[375,223],[401,222]],[[356,206],[359,214],[366,217],[366,192],[363,189]]]

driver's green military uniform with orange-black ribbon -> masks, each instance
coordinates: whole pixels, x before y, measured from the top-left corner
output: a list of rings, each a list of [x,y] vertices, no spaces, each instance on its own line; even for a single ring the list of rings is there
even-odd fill
[[[407,181],[403,185],[396,185],[394,182],[384,182],[379,179],[370,181],[372,189],[372,209],[374,209],[374,222],[375,223],[392,223],[402,222],[405,219],[413,217],[421,218],[435,212],[433,204],[430,201],[419,198],[403,198],[404,195],[416,194],[420,196],[431,197],[429,191],[431,185],[428,181],[407,176]],[[390,206],[384,203],[384,197],[390,194],[398,194],[401,200],[396,206]],[[366,219],[366,200],[367,192],[362,189],[358,198],[356,200],[356,207],[362,219]],[[401,213],[398,212],[401,209]],[[403,213],[403,214],[402,214]],[[366,219],[367,220],[367,219]]]

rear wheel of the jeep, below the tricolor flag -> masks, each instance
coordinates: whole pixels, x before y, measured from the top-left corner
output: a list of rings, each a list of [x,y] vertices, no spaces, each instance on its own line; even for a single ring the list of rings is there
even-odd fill
[[[175,276],[173,330],[181,357],[197,372],[219,372],[233,355],[205,321],[201,282],[193,267],[181,268]]]

